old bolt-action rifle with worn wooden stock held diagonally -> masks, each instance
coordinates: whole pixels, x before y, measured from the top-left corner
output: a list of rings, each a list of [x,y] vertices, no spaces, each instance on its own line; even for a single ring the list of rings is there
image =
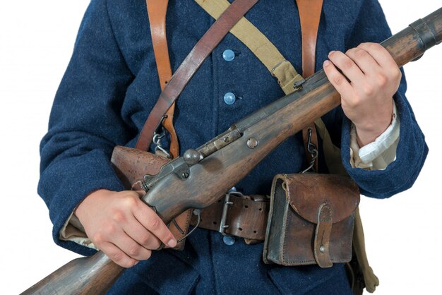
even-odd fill
[[[403,66],[441,40],[439,8],[381,44]],[[141,179],[147,191],[143,201],[168,224],[186,209],[201,210],[214,203],[283,140],[340,104],[340,95],[322,70],[294,87],[297,91],[247,116],[200,148],[186,151],[183,157],[168,162],[148,152],[116,147],[112,163],[124,183]],[[23,294],[104,294],[123,271],[124,267],[99,251],[72,260]]]

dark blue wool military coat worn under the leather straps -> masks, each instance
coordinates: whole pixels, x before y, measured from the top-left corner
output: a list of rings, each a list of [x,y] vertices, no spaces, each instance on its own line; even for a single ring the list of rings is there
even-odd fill
[[[246,14],[301,72],[301,35],[293,0],[261,0]],[[214,22],[194,1],[169,1],[167,42],[175,71]],[[331,50],[360,42],[380,42],[390,30],[376,0],[324,1],[318,30],[316,69]],[[225,61],[226,49],[237,52]],[[405,98],[405,79],[395,95],[400,117],[397,159],[382,171],[350,166],[350,121],[340,107],[323,116],[342,163],[364,195],[386,198],[412,186],[427,148]],[[237,96],[226,104],[226,92]],[[109,157],[115,145],[132,146],[160,94],[148,16],[143,0],[92,0],[80,25],[72,59],[54,100],[49,131],[41,143],[38,191],[60,246],[90,255],[94,251],[61,241],[59,230],[88,193],[121,191]],[[227,35],[199,69],[177,102],[175,126],[181,151],[197,148],[229,125],[283,96],[275,78],[244,44]],[[282,143],[238,183],[244,193],[270,192],[277,173],[306,167],[301,136]],[[112,294],[345,294],[342,265],[279,267],[261,261],[262,244],[232,246],[215,231],[198,229],[183,252],[160,251],[124,272]]]

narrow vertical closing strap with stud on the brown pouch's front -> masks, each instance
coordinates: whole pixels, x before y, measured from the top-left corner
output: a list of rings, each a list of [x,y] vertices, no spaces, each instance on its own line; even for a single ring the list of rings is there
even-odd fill
[[[322,203],[318,210],[318,224],[316,224],[314,255],[316,263],[322,268],[332,267],[330,260],[330,233],[333,225],[331,207]]]

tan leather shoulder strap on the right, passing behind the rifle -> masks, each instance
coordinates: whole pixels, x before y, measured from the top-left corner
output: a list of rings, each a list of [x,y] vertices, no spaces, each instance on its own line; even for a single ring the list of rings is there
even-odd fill
[[[296,0],[299,21],[301,23],[302,35],[302,76],[307,78],[315,73],[315,56],[316,56],[316,39],[318,35],[319,20],[321,19],[321,11],[323,0]],[[312,123],[302,131],[304,138],[304,147],[307,147],[309,138],[309,129],[313,132],[311,143],[318,148],[318,136],[316,136],[316,128]],[[306,150],[306,157],[311,161],[311,154]],[[318,171],[318,159],[314,164],[315,171]]]

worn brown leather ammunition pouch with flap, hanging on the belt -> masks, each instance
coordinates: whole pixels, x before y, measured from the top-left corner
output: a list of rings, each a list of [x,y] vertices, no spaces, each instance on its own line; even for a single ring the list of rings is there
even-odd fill
[[[278,174],[270,195],[265,263],[331,267],[352,258],[359,188],[347,176]]]

